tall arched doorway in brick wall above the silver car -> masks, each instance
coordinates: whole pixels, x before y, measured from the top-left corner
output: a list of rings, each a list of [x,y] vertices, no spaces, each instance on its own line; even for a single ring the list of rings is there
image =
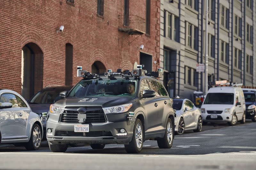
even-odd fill
[[[27,100],[43,88],[44,54],[35,43],[28,43],[21,54],[21,95]]]

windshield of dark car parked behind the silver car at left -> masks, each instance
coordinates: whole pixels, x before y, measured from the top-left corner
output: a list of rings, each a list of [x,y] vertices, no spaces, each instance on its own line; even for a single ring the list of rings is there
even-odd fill
[[[60,100],[61,90],[49,90],[49,91],[40,91],[30,100],[31,104],[53,104],[56,101]]]

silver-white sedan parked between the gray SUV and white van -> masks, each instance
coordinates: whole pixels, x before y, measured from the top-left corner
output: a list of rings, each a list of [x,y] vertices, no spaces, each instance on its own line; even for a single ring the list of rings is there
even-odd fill
[[[202,115],[188,99],[173,99],[173,109],[176,109],[175,132],[181,135],[185,130],[202,131]]]

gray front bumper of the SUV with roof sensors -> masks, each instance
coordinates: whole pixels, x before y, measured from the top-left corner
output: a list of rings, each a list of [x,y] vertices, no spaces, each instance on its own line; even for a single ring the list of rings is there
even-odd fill
[[[132,124],[127,118],[128,113],[119,113],[119,114],[107,114],[107,122],[103,123],[83,123],[89,124],[89,132],[100,132],[100,131],[110,131],[112,136],[98,136],[98,137],[86,137],[86,132],[82,136],[57,136],[56,132],[74,132],[75,124],[82,123],[63,123],[59,122],[59,114],[51,114],[47,120],[47,128],[52,129],[52,135],[46,134],[47,141],[52,144],[128,144],[132,140],[134,124]],[[120,133],[120,129],[125,129],[127,135],[117,136],[117,133]],[[79,133],[79,132],[78,132]],[[59,133],[60,134],[60,133]],[[88,133],[89,134],[89,133]]]

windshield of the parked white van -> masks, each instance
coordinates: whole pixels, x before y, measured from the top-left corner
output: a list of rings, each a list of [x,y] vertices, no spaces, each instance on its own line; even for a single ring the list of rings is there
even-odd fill
[[[234,94],[233,93],[208,93],[204,104],[222,104],[233,105]]]

